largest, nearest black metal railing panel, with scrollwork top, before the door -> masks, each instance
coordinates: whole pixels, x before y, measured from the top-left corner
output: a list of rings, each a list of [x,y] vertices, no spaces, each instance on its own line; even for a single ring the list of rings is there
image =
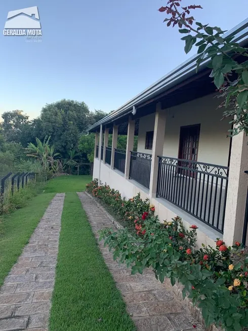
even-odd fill
[[[157,197],[223,233],[229,168],[159,156]]]

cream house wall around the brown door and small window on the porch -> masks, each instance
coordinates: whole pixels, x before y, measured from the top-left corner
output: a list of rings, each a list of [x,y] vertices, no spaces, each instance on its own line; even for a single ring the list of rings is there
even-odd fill
[[[197,161],[227,166],[230,124],[229,119],[221,120],[223,109],[217,109],[219,104],[220,99],[210,95],[166,109],[163,156],[178,158],[180,127],[200,124]],[[145,149],[145,138],[147,131],[154,130],[154,122],[155,114],[140,118],[138,152],[151,154]]]

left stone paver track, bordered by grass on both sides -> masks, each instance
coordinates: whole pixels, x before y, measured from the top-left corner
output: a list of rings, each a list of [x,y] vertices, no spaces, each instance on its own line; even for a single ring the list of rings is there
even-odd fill
[[[48,331],[64,194],[57,194],[0,289],[0,331]]]

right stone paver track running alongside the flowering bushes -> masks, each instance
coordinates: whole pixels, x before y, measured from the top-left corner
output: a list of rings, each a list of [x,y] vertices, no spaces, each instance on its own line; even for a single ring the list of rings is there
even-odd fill
[[[98,230],[113,228],[95,200],[85,193],[78,193],[78,196],[96,237]],[[143,275],[131,275],[126,265],[113,261],[112,253],[103,246],[103,242],[99,243],[99,247],[139,331],[194,330],[189,312],[175,298],[169,283],[161,284],[149,269]]]

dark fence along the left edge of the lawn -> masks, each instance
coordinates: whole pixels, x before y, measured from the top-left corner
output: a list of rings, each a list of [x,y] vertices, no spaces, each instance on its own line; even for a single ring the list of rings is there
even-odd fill
[[[36,180],[35,172],[17,172],[16,174],[9,172],[1,179],[0,203],[4,201],[5,191],[7,190],[7,186],[9,186],[9,184],[11,185],[10,190],[13,195],[15,190],[19,191],[20,187],[24,188],[28,181],[34,180]]]

